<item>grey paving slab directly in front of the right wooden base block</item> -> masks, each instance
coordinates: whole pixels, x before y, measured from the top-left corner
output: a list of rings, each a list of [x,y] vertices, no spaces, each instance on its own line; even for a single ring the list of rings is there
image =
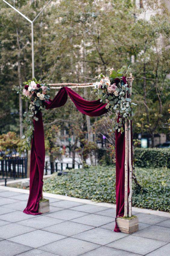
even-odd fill
[[[145,255],[165,244],[165,242],[158,240],[128,235],[127,237],[121,238],[120,240],[112,242],[106,246]]]

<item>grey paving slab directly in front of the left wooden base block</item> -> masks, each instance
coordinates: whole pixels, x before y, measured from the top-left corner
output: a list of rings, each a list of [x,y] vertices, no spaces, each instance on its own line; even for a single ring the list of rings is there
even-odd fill
[[[58,224],[60,222],[63,222],[63,220],[59,220],[59,219],[56,219],[56,218],[50,218],[50,217],[47,217],[47,216],[40,215],[36,218],[30,218],[30,219],[27,219],[27,220],[17,222],[17,224],[24,225],[24,226],[27,226],[27,227],[41,229],[41,228],[46,228],[46,227],[51,226],[51,225]]]

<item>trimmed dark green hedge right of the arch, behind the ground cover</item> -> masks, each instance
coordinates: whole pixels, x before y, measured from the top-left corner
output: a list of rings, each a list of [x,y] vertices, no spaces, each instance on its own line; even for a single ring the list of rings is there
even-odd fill
[[[135,148],[135,165],[139,167],[167,167],[170,168],[170,149]]]

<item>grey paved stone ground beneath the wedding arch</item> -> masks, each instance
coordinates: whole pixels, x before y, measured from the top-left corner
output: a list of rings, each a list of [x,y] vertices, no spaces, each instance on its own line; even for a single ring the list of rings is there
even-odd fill
[[[49,198],[50,213],[22,212],[28,195],[0,190],[0,256],[169,256],[170,218],[145,213],[133,235],[115,233],[115,209]]]

